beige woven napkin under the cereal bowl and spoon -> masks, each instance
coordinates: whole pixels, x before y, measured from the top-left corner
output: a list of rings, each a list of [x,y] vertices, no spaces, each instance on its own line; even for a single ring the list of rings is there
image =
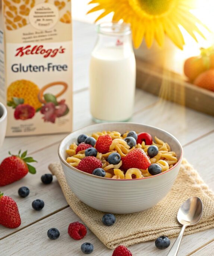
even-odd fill
[[[186,160],[183,160],[173,188],[161,202],[143,212],[115,215],[116,222],[113,226],[103,225],[101,222],[103,212],[82,203],[72,193],[60,163],[50,164],[49,169],[53,175],[56,175],[72,210],[109,249],[114,249],[119,244],[130,246],[153,240],[160,235],[176,237],[180,232],[177,211],[180,205],[191,196],[201,198],[204,214],[198,224],[186,228],[184,235],[214,227],[214,193]]]

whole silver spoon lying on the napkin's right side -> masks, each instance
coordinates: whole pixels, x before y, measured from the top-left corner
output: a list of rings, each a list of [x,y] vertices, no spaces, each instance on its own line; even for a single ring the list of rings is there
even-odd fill
[[[190,197],[182,204],[178,211],[177,219],[180,224],[183,225],[183,227],[167,256],[177,255],[185,228],[187,226],[192,226],[198,223],[202,217],[202,214],[203,203],[199,197]]]

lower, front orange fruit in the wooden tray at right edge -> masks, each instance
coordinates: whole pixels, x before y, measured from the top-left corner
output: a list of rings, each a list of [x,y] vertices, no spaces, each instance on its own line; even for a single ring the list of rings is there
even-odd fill
[[[194,81],[194,84],[214,92],[214,69],[201,73]]]

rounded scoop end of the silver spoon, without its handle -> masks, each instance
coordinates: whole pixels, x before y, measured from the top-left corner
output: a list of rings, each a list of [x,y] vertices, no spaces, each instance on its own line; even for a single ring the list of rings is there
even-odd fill
[[[203,214],[203,204],[199,197],[190,197],[180,207],[177,220],[182,225],[195,225]]]

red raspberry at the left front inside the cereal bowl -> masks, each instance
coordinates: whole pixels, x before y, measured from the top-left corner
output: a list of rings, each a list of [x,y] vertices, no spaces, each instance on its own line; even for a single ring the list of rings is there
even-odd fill
[[[77,169],[92,174],[94,169],[101,167],[102,162],[96,157],[84,157],[78,164]]]

